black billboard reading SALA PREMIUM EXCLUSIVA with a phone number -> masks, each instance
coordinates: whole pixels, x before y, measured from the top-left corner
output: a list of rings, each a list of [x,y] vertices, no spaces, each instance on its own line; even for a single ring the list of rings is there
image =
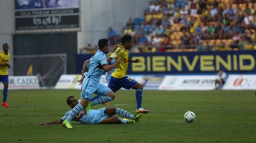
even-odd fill
[[[79,28],[79,0],[16,1],[15,29],[70,29]]]

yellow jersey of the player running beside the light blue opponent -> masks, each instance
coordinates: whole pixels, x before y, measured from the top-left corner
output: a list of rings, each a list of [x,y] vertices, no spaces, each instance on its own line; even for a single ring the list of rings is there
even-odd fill
[[[118,45],[116,51],[112,53],[111,57],[112,59],[118,59],[119,57],[122,57],[121,63],[117,65],[117,68],[114,70],[111,76],[115,78],[123,78],[126,76],[129,63],[129,50],[125,50],[122,45]]]

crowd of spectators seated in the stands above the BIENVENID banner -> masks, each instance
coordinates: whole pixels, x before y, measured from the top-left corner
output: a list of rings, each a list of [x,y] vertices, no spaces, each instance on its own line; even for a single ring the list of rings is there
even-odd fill
[[[122,34],[109,28],[111,46],[129,34],[134,52],[256,49],[254,0],[153,0]]]

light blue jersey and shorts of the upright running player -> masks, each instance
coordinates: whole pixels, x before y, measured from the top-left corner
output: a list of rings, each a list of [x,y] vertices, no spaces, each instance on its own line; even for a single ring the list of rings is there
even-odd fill
[[[99,83],[101,75],[103,74],[103,66],[109,65],[106,60],[106,55],[98,50],[87,64],[88,72],[85,72],[85,78],[82,83],[81,98],[90,100],[93,93],[99,96],[107,95],[111,90]]]

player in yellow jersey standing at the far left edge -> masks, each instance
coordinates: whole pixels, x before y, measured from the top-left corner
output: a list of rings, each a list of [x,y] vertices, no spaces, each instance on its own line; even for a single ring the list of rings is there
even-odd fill
[[[0,82],[4,84],[3,90],[3,102],[1,103],[2,106],[9,108],[10,106],[6,102],[7,93],[8,93],[8,82],[9,76],[7,68],[10,69],[9,60],[10,60],[10,53],[8,53],[9,46],[7,43],[3,44],[3,50],[0,51]]]

